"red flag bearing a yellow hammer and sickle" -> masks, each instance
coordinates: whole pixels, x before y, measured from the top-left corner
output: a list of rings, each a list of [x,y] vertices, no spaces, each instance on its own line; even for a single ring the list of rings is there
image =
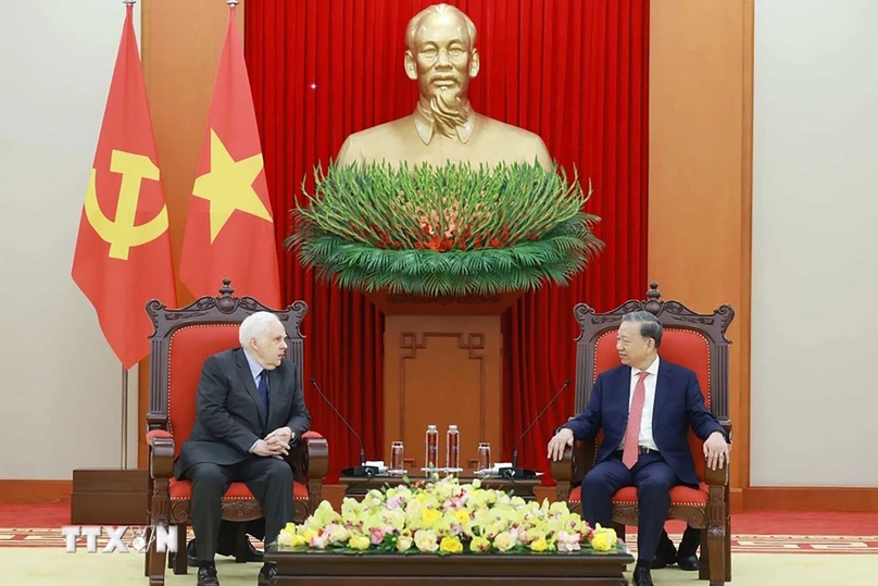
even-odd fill
[[[128,370],[149,353],[153,327],[147,302],[155,298],[176,307],[177,296],[131,4],[126,10],[79,219],[73,279]]]

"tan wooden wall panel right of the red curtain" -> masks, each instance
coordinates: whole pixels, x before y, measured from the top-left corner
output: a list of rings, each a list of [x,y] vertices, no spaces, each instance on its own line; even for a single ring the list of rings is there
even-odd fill
[[[729,331],[732,501],[750,483],[753,0],[650,9],[649,278]]]

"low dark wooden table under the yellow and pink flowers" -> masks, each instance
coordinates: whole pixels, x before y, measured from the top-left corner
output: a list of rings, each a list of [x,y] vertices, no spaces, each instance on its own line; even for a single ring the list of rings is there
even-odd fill
[[[623,572],[635,562],[620,543],[614,553],[490,553],[437,556],[277,551],[273,586],[627,586]]]

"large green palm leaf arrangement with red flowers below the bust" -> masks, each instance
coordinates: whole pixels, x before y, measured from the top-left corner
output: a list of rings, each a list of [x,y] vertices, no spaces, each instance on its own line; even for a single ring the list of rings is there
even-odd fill
[[[603,248],[560,167],[330,165],[292,210],[285,246],[340,287],[427,296],[565,285]]]

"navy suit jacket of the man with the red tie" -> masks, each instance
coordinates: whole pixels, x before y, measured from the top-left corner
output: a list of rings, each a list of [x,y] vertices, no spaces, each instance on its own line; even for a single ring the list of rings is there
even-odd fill
[[[598,376],[586,410],[562,426],[569,427],[576,439],[591,439],[603,429],[604,440],[598,449],[595,464],[618,449],[625,436],[630,394],[630,366],[606,371]],[[701,439],[707,439],[714,432],[725,435],[723,426],[704,406],[695,373],[662,360],[655,381],[653,439],[677,477],[685,484],[697,485],[699,478],[687,438],[689,426]]]

